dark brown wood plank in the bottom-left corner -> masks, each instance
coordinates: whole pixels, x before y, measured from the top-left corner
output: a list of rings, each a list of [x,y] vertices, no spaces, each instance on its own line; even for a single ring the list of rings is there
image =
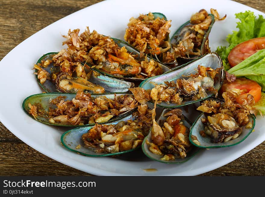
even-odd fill
[[[63,165],[22,142],[0,142],[1,175],[89,175]]]

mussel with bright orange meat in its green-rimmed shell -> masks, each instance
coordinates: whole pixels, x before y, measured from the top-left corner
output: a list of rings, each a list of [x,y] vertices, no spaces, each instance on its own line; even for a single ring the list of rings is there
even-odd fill
[[[125,47],[126,52],[123,51],[124,48],[120,51],[119,56],[116,57],[114,55],[108,55],[108,59],[104,62],[100,62],[98,65],[93,66],[92,70],[96,70],[99,73],[102,73],[107,76],[111,76],[118,79],[124,79],[126,81],[143,81],[148,77],[148,74],[142,72],[141,61],[150,62],[153,61],[154,65],[157,64],[161,69],[158,73],[165,73],[167,71],[172,70],[165,64],[158,62],[155,59],[152,59],[148,56],[141,56],[140,52],[135,49],[130,44],[119,40],[117,38],[111,38],[121,49]],[[152,72],[156,70],[155,66],[151,65]],[[141,77],[136,77],[136,75]]]

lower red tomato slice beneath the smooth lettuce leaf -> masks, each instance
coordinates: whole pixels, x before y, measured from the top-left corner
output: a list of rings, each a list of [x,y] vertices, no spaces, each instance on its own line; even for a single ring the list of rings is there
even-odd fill
[[[261,87],[257,82],[245,78],[237,78],[234,82],[228,83],[224,81],[221,93],[231,90],[232,88],[240,89],[241,95],[236,98],[239,104],[242,104],[244,100],[247,99],[248,94],[254,97],[255,103],[260,100],[261,97]]]

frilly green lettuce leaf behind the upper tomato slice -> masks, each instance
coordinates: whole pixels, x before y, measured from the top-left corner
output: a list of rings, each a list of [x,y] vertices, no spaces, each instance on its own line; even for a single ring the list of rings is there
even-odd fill
[[[233,31],[232,34],[229,34],[226,37],[226,40],[229,43],[228,47],[218,46],[216,50],[217,54],[220,55],[223,60],[225,70],[229,70],[230,68],[227,57],[232,48],[246,40],[265,36],[265,19],[262,15],[259,15],[257,18],[254,15],[254,12],[247,10],[245,12],[235,13],[235,18],[240,20],[237,22],[236,26],[239,31]]]

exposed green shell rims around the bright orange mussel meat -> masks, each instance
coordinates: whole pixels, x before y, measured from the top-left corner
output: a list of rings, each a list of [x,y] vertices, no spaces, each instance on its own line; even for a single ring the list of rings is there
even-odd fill
[[[117,38],[112,38],[112,39],[114,40],[114,42],[115,42],[120,48],[123,47],[123,46],[125,46],[125,48],[127,49],[127,51],[128,51],[130,54],[132,54],[132,55],[136,55],[135,58],[136,58],[137,60],[139,60],[139,61],[143,61],[143,60],[145,60],[145,57],[140,58],[140,52],[139,52],[137,49],[135,49],[132,45],[130,45],[130,44],[124,42],[123,40],[119,40],[119,39],[117,39]],[[154,60],[154,61],[157,61],[156,59],[153,59],[153,58],[151,58],[151,57],[147,57],[147,59],[148,59],[148,60]],[[159,61],[157,61],[157,62],[161,65],[162,70],[163,70],[163,73],[172,70],[172,69],[171,69],[170,67],[168,67],[167,65],[162,64],[162,63],[159,62]],[[112,75],[112,74],[110,74],[110,73],[108,73],[108,72],[105,72],[104,70],[97,69],[97,68],[95,68],[95,67],[92,68],[92,70],[96,70],[96,71],[98,71],[99,73],[102,73],[102,74],[104,74],[104,75],[106,75],[106,76],[114,77],[114,78],[117,78],[117,79],[123,79],[123,80],[130,81],[130,82],[137,82],[137,81],[138,81],[138,82],[141,82],[141,81],[145,80],[145,79],[140,79],[140,78],[136,78],[136,77],[124,77],[124,76],[120,76],[120,75],[119,75],[119,76]]]

